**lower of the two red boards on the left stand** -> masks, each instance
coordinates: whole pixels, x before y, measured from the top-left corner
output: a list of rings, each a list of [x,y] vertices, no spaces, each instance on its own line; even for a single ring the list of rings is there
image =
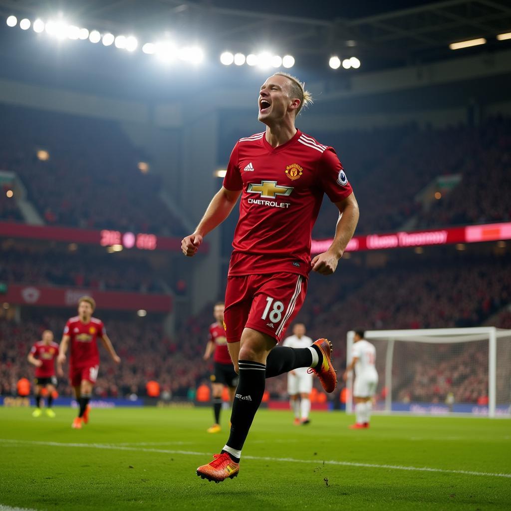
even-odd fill
[[[168,313],[172,311],[172,297],[166,294],[125,293],[121,291],[97,291],[91,289],[56,288],[9,284],[2,301],[13,305],[37,305],[69,307],[75,309],[80,296],[92,296],[98,309]]]

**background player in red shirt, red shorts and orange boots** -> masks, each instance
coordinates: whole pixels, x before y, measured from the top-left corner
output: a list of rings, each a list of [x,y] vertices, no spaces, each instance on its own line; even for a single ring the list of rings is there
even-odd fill
[[[62,364],[66,360],[65,354],[69,341],[71,341],[69,380],[75,389],[76,400],[80,405],[78,417],[75,417],[72,425],[75,429],[81,429],[82,422],[87,424],[89,421],[92,386],[96,383],[99,372],[98,337],[112,360],[116,364],[121,362],[106,335],[103,321],[92,317],[94,309],[96,309],[96,302],[90,296],[82,296],[78,300],[78,316],[67,320],[57,358],[59,375],[63,376]]]

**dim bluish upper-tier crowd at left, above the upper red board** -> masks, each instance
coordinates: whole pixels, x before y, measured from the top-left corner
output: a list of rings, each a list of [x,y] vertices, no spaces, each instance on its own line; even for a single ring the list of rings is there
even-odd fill
[[[48,225],[184,234],[158,198],[161,178],[138,170],[147,158],[117,123],[7,105],[0,116],[0,170],[18,175]]]

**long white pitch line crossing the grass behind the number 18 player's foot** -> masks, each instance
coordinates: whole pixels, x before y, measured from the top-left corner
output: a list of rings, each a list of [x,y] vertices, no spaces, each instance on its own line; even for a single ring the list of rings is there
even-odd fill
[[[135,447],[119,446],[115,444],[63,444],[59,442],[38,442],[37,440],[12,440],[0,438],[0,444],[28,444],[28,445],[42,445],[50,447],[88,447],[92,449],[111,449],[117,451],[135,451],[135,452],[154,452],[160,454],[183,454],[188,456],[211,456],[211,453],[196,452],[196,451],[174,451],[169,449],[137,449]],[[473,470],[450,470],[450,469],[435,469],[431,467],[407,467],[402,465],[380,465],[377,463],[359,463],[356,461],[337,461],[333,459],[321,460],[318,459],[295,459],[295,458],[271,458],[266,456],[243,456],[243,459],[253,459],[258,461],[285,461],[289,463],[313,463],[326,465],[338,465],[342,467],[364,467],[370,469],[388,469],[388,470],[405,470],[412,472],[439,472],[443,474],[462,474],[469,476],[487,476],[487,477],[506,477],[511,479],[511,474],[502,474],[494,472],[477,472]],[[0,510],[2,511],[2,510]]]

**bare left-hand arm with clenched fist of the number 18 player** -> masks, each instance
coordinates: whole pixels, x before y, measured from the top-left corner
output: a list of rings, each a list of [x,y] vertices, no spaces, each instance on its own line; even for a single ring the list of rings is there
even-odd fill
[[[224,187],[215,194],[194,233],[182,239],[181,250],[184,255],[188,257],[195,255],[202,238],[229,216],[240,194],[241,190],[232,192]]]

